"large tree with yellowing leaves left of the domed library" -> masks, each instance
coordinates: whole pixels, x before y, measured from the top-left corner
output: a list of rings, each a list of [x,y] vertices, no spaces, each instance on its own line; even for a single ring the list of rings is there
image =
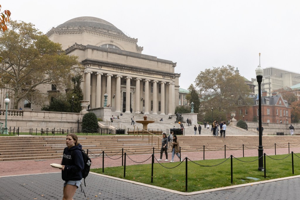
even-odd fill
[[[50,41],[32,23],[10,21],[0,32],[0,88],[11,91],[13,108],[24,99],[41,105],[45,98],[39,90],[53,84],[57,90],[69,88],[77,56],[66,55],[61,45]]]

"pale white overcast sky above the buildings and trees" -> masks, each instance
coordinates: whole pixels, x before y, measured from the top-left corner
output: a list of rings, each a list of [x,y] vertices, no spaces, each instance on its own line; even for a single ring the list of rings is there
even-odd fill
[[[261,66],[299,72],[300,1],[1,1],[13,20],[44,33],[80,16],[104,19],[138,38],[143,54],[177,62],[187,89],[206,68],[233,65],[255,78]]]

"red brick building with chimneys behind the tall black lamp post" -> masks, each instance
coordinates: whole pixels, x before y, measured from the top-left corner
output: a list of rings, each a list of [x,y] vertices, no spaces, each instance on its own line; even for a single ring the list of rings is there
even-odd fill
[[[249,97],[253,100],[252,106],[243,105],[241,100],[238,102],[236,120],[253,121],[254,116],[258,120],[258,95],[249,95]],[[281,95],[272,93],[272,96],[267,96],[267,91],[262,91],[261,100],[263,123],[288,124],[291,122],[291,107]]]

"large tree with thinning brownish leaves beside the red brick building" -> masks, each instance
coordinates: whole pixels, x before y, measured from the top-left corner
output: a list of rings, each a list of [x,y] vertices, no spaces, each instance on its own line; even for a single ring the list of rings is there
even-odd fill
[[[238,100],[243,105],[251,102],[250,88],[244,77],[236,74],[230,65],[201,71],[196,77],[195,86],[201,95],[203,112],[209,116],[213,108],[213,118],[218,120],[223,120],[224,114],[228,116],[229,112],[235,111]]]

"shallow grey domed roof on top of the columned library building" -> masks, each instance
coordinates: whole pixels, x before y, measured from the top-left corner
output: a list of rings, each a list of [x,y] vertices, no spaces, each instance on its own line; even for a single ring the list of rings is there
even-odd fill
[[[61,25],[58,25],[56,28],[63,28],[63,27],[70,27],[70,26],[85,26],[85,27],[93,27],[93,28],[101,28],[109,31],[115,31],[118,33],[123,33],[120,29],[118,29],[116,26],[111,24],[110,22],[105,21],[104,19],[100,19],[97,17],[76,17],[73,19],[70,19],[66,22],[64,22]]]

